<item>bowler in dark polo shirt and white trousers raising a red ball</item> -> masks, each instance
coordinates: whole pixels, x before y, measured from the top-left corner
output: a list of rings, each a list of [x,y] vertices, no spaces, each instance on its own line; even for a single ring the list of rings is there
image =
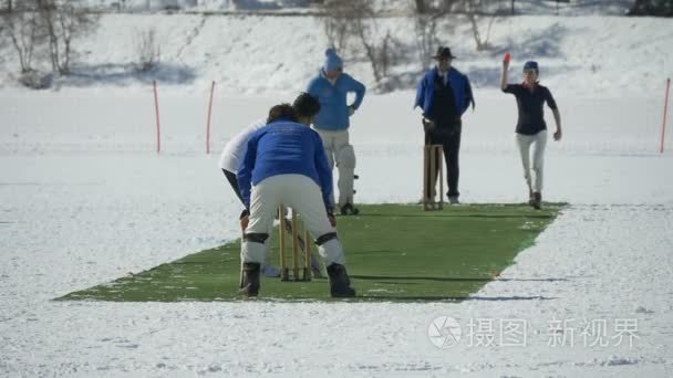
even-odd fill
[[[517,98],[519,119],[517,120],[516,140],[521,155],[524,177],[528,185],[528,203],[535,209],[542,204],[542,178],[545,171],[545,147],[547,146],[547,124],[545,123],[545,108],[547,106],[553,113],[556,132],[553,140],[561,140],[561,114],[556,105],[551,92],[540,85],[538,63],[526,62],[524,65],[524,83],[507,84],[507,70],[509,60],[503,61],[500,73],[500,88],[505,93],[511,93]],[[532,174],[530,167],[530,154],[532,149]]]

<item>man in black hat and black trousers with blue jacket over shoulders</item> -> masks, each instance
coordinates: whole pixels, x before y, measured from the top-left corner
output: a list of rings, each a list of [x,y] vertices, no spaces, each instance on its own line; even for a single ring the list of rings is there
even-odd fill
[[[414,107],[423,109],[423,129],[425,130],[425,145],[442,145],[446,161],[446,181],[448,186],[448,201],[451,204],[460,203],[458,197],[460,151],[460,133],[463,122],[460,117],[472,104],[475,107],[472,86],[467,76],[454,69],[451,64],[456,56],[449,48],[441,46],[433,56],[437,64],[428,70],[416,90]],[[438,169],[438,167],[437,167]],[[431,177],[431,175],[427,175]],[[435,172],[435,176],[436,172]],[[424,201],[434,197],[436,182],[427,182],[428,192]]]

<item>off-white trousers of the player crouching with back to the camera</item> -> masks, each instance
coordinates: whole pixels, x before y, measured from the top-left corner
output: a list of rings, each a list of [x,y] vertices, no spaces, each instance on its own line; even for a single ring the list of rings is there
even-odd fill
[[[303,175],[276,175],[261,180],[250,192],[250,218],[246,234],[267,233],[272,229],[273,219],[280,204],[292,208],[313,239],[336,232],[330,224],[322,201],[322,190],[311,178]],[[271,235],[269,234],[269,238]],[[331,239],[318,246],[325,265],[345,264],[343,249],[338,239]],[[242,262],[267,261],[265,244],[244,241],[240,259]]]

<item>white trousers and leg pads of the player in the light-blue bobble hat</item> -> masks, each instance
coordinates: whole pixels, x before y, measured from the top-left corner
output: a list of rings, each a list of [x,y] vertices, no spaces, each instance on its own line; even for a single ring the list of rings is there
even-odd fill
[[[349,130],[331,132],[320,128],[313,129],[320,135],[322,139],[322,146],[328,156],[328,164],[330,169],[334,168],[339,170],[339,180],[336,187],[339,188],[339,207],[346,203],[353,203],[353,179],[355,176],[355,153],[353,146],[349,143]],[[334,196],[332,195],[332,203],[334,203]]]

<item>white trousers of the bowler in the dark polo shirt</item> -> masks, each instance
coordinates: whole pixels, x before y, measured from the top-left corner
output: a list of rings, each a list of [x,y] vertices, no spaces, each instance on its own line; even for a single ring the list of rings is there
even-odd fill
[[[542,179],[545,178],[545,147],[547,147],[547,130],[536,135],[515,134],[521,164],[524,166],[524,178],[528,188],[532,191],[542,192]],[[532,149],[532,154],[531,154]],[[530,167],[530,155],[532,155],[532,169]]]

